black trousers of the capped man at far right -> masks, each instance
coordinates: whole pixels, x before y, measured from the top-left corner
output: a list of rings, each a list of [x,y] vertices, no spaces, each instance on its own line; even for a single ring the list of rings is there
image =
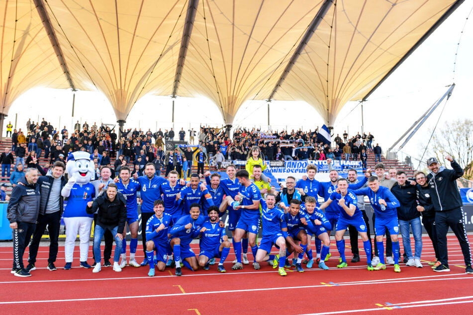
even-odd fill
[[[439,257],[437,258],[446,266],[448,266],[447,232],[449,227],[458,238],[463,257],[465,258],[465,264],[467,266],[472,264],[472,251],[468,242],[467,231],[465,230],[464,218],[463,208],[435,212],[435,231],[437,232],[439,250]]]

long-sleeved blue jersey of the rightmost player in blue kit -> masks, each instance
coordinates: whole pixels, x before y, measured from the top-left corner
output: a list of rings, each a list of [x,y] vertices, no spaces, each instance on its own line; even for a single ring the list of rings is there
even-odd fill
[[[399,207],[400,204],[389,188],[379,186],[378,191],[374,192],[370,187],[365,187],[354,190],[353,193],[358,196],[365,195],[370,198],[370,203],[377,218],[397,218],[397,207]],[[379,205],[379,199],[384,199],[384,201],[386,201],[387,207],[385,207],[384,210],[382,210]]]

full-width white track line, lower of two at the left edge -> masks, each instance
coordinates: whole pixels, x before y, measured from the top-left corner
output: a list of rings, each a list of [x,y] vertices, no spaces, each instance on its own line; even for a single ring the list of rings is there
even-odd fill
[[[456,274],[456,275],[463,275],[463,274]],[[386,284],[386,283],[406,283],[406,282],[424,282],[424,281],[444,281],[444,280],[472,279],[471,277],[440,278],[442,276],[443,275],[428,276],[429,279],[415,279],[415,278],[379,279],[379,280],[369,280],[369,281],[342,282],[342,283],[337,283],[337,284],[339,286],[352,286],[352,285],[367,285],[367,284]],[[449,276],[455,276],[455,275],[449,275]],[[437,278],[434,278],[434,277],[437,277]],[[419,278],[425,278],[425,277],[419,277]],[[402,279],[408,279],[408,280],[402,280]],[[189,292],[189,293],[175,293],[175,294],[155,294],[155,295],[144,295],[144,296],[142,295],[142,296],[121,296],[121,297],[83,298],[83,299],[64,299],[64,300],[10,301],[10,302],[0,302],[0,305],[1,304],[30,304],[30,303],[81,302],[81,301],[138,299],[138,298],[159,298],[159,297],[221,294],[221,293],[274,291],[274,290],[290,290],[290,289],[308,289],[308,288],[321,288],[321,287],[326,287],[326,285],[299,286],[299,287],[280,287],[280,288],[260,288],[260,289],[240,289],[240,290],[225,290],[225,291],[203,291],[203,292]]]

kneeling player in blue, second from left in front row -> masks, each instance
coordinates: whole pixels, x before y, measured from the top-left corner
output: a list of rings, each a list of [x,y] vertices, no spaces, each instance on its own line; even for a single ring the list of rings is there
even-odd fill
[[[192,203],[189,209],[189,215],[179,219],[170,231],[172,237],[170,244],[176,261],[176,276],[182,276],[181,258],[184,258],[183,263],[190,270],[198,269],[197,258],[190,248],[190,242],[199,235],[203,223],[207,221],[207,216],[200,215],[198,203]]]

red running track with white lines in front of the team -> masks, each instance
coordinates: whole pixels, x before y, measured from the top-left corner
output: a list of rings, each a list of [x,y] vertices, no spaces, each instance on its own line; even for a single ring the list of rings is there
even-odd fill
[[[423,239],[422,258],[430,261],[434,258],[432,244],[428,238]],[[333,256],[327,262],[331,269],[327,271],[315,264],[314,268],[305,268],[304,273],[290,270],[286,277],[266,264],[259,271],[251,265],[232,271],[234,255],[230,254],[225,274],[218,273],[214,265],[208,271],[183,268],[182,277],[174,276],[173,269],[157,271],[153,278],[147,276],[148,267],[125,267],[121,273],[102,267],[102,271],[93,274],[92,269],[78,268],[78,258],[73,263],[77,268],[51,272],[45,269],[48,247],[44,246],[40,247],[38,269],[32,271],[33,276],[18,278],[9,273],[11,247],[0,247],[0,308],[3,314],[84,314],[97,310],[104,314],[190,315],[471,313],[473,275],[465,274],[455,236],[449,236],[451,272],[443,273],[433,272],[427,262],[424,268],[401,264],[401,273],[394,273],[392,266],[368,271],[364,256],[359,263],[349,262],[349,267],[337,269],[338,253],[333,247]],[[363,248],[361,241],[359,247]],[[76,251],[75,256],[78,254]],[[346,255],[351,257],[348,246]],[[138,261],[142,256],[138,250]],[[26,254],[24,258],[26,262]],[[60,246],[56,266],[63,265],[64,247]]]

